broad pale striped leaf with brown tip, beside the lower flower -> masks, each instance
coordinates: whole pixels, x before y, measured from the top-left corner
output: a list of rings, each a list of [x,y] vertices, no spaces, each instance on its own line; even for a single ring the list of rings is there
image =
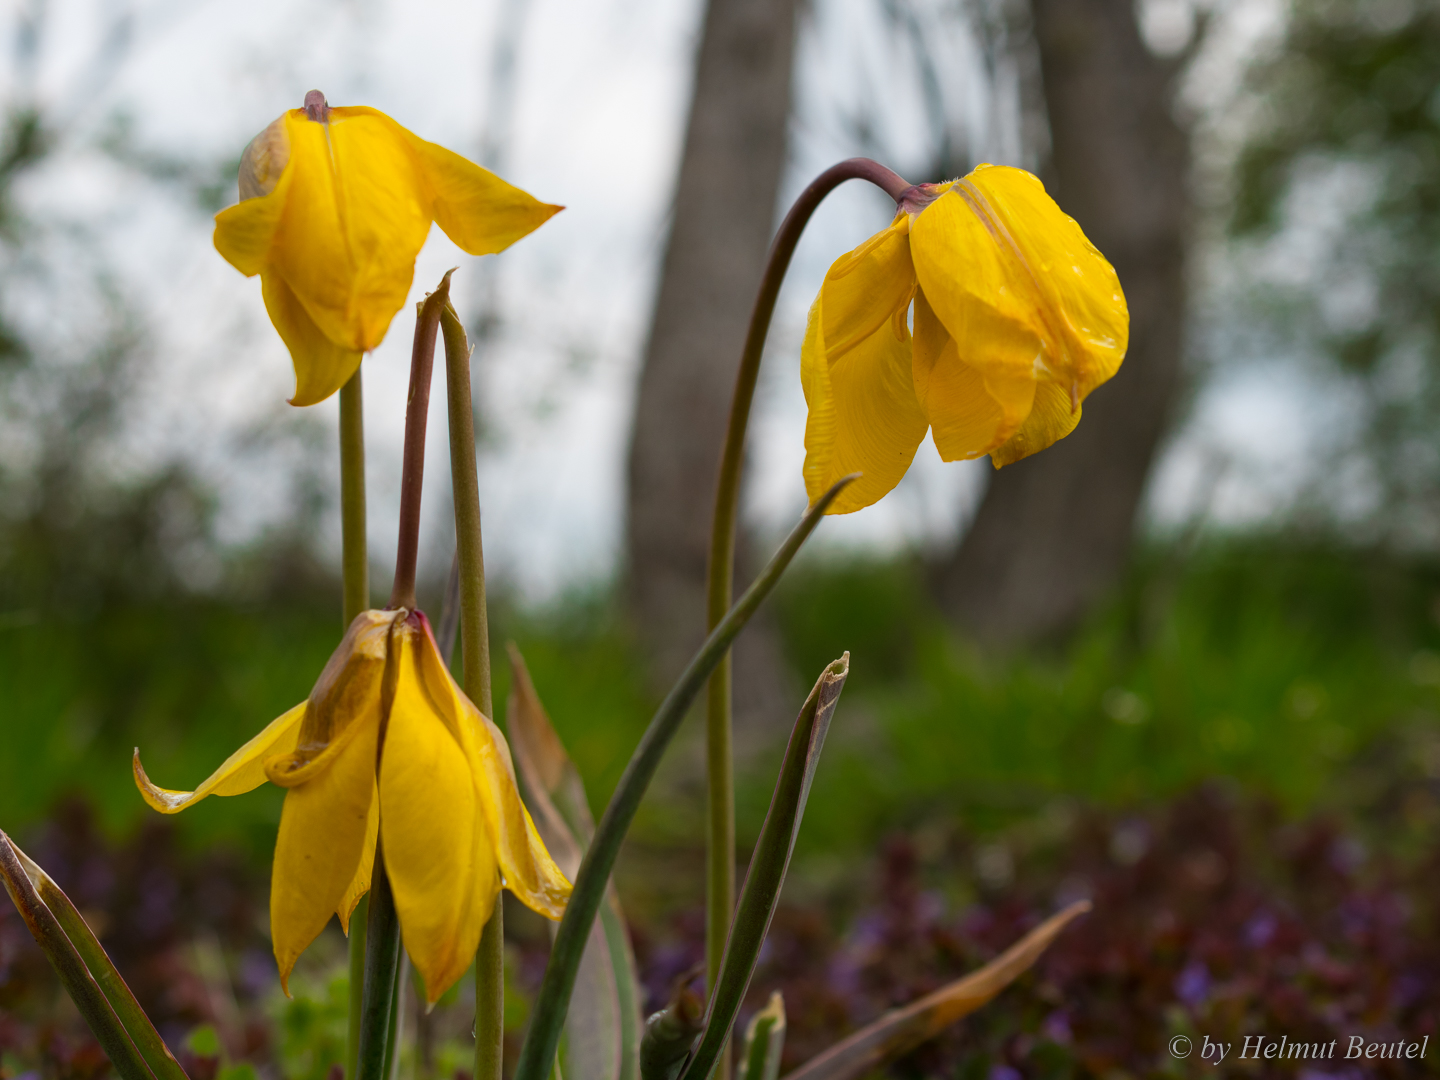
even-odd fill
[[[567,877],[595,835],[579,770],[564,752],[540,703],[526,661],[510,651],[510,701],[505,723],[526,805],[540,838]],[[564,1021],[564,1074],[569,1080],[635,1080],[639,1076],[639,978],[629,932],[613,883],[580,958],[575,995]]]

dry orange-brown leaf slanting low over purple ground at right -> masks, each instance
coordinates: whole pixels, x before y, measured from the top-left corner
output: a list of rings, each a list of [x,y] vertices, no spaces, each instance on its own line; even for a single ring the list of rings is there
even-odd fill
[[[1077,900],[978,972],[942,986],[904,1008],[887,1012],[870,1027],[812,1057],[785,1080],[854,1080],[876,1071],[991,1001],[1038,960],[1073,919],[1089,910],[1089,900]]]

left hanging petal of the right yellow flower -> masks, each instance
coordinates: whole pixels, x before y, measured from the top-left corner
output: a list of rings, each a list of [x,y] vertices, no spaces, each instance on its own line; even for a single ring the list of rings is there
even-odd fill
[[[884,497],[910,468],[927,420],[912,383],[906,308],[914,292],[904,215],[829,268],[801,348],[805,490],[816,501],[860,472],[827,513]]]

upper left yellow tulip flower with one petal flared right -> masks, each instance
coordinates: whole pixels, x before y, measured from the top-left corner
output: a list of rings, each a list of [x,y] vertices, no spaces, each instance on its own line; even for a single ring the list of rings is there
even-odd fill
[[[215,246],[261,275],[295,364],[291,405],[314,405],[384,338],[432,222],[468,253],[491,255],[560,209],[383,112],[330,108],[311,91],[245,148],[240,202],[215,216]]]

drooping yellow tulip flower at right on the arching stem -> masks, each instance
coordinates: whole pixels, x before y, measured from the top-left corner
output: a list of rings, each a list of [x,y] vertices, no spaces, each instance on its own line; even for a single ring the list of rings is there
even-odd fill
[[[1129,321],[1115,269],[1030,173],[981,166],[910,189],[811,308],[811,501],[850,472],[864,475],[828,513],[878,501],[926,429],[945,461],[989,454],[996,468],[1063,439],[1120,367]]]

